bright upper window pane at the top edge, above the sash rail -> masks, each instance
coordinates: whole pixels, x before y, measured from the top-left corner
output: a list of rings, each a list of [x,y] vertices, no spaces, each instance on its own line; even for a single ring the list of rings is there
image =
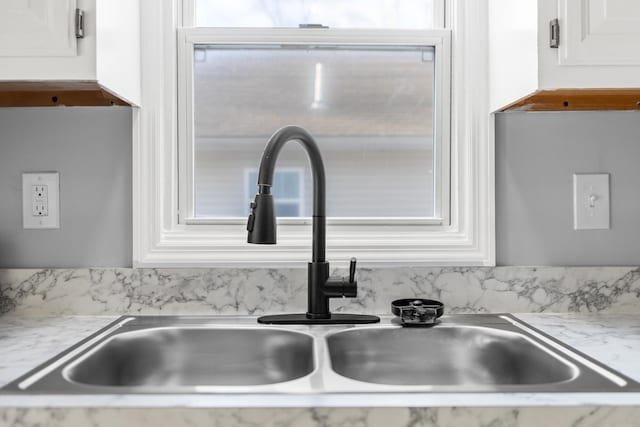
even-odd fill
[[[433,0],[197,0],[199,27],[433,28]]]

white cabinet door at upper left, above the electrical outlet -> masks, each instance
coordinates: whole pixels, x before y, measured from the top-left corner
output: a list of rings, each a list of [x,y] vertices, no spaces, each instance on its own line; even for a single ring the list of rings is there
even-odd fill
[[[2,0],[0,56],[73,56],[76,0]]]

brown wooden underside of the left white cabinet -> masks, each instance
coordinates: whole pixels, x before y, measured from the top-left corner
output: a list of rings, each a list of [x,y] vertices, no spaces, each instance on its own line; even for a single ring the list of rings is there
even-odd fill
[[[126,101],[92,81],[0,82],[0,107],[100,107]]]

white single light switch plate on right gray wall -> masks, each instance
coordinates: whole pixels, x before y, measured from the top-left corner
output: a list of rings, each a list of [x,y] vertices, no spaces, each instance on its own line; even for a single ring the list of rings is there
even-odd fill
[[[573,228],[606,230],[609,221],[609,174],[573,175]]]

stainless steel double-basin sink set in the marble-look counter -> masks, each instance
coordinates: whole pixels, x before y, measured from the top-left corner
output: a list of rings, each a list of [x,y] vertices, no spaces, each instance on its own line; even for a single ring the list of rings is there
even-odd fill
[[[127,316],[6,390],[34,393],[640,391],[511,315],[436,326],[263,326]]]

